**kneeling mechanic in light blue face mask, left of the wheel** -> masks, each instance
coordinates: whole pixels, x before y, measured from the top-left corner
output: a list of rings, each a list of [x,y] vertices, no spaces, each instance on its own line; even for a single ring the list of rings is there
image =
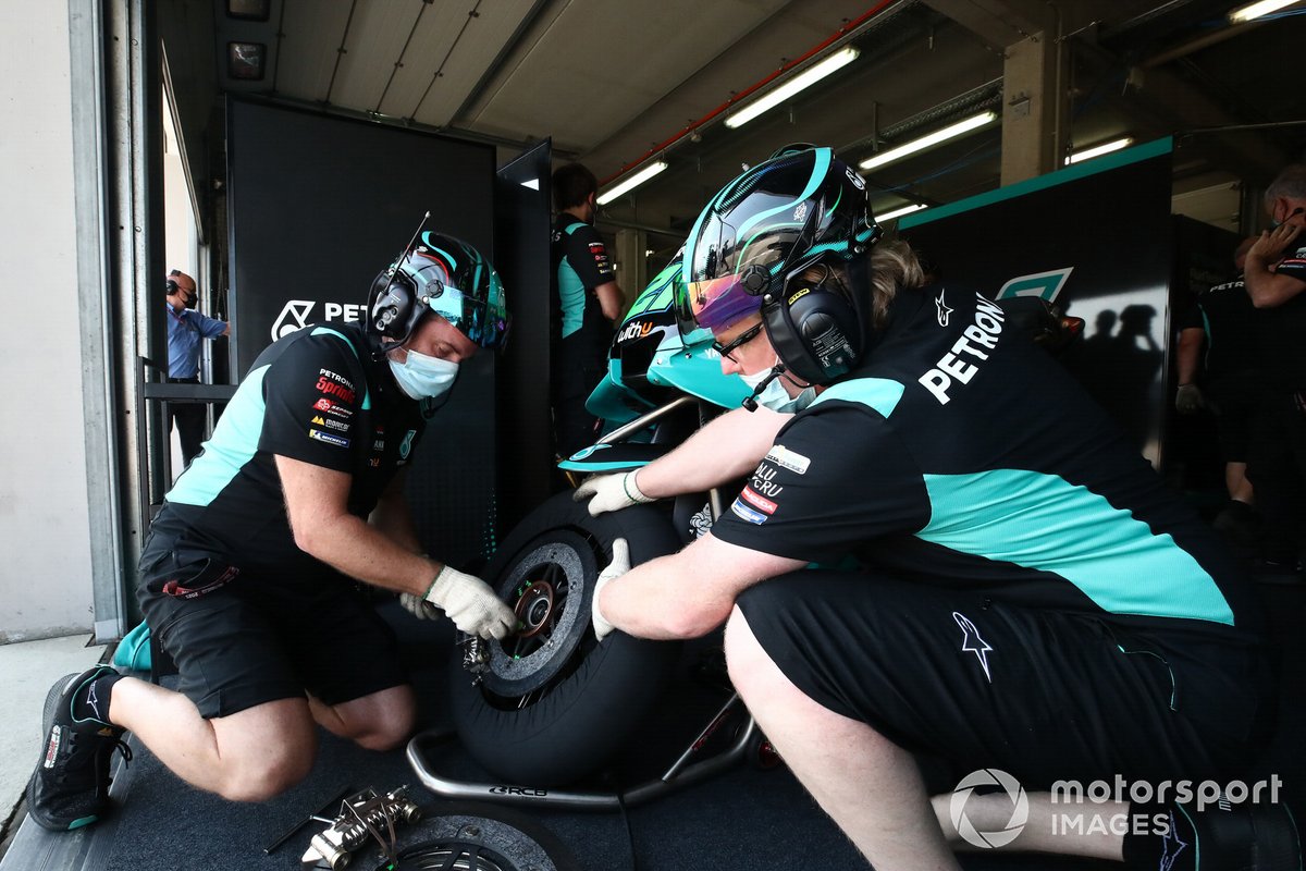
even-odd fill
[[[178,691],[107,666],[60,680],[27,812],[95,821],[131,730],[187,782],[264,800],[312,767],[316,725],[398,746],[414,697],[394,637],[357,584],[458,629],[504,637],[512,610],[421,555],[404,466],[458,366],[502,343],[503,287],[470,245],[424,232],[372,283],[364,324],[307,326],[253,363],[141,555],[138,599]]]

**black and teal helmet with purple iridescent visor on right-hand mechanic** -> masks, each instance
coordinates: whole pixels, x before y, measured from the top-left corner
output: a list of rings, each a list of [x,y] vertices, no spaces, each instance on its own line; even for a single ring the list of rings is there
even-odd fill
[[[828,148],[781,149],[717,193],[684,245],[678,313],[688,334],[759,312],[818,262],[861,259],[880,236],[866,183]]]

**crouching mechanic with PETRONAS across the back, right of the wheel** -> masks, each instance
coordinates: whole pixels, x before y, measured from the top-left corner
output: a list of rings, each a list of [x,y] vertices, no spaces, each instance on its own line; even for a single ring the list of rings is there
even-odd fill
[[[956,777],[1013,776],[1029,811],[1012,849],[1298,868],[1282,806],[1126,791],[1071,808],[1097,825],[1057,827],[1036,793],[1055,781],[1246,770],[1275,696],[1256,610],[1220,542],[1058,364],[973,290],[922,286],[905,244],[868,252],[875,235],[862,180],[828,149],[759,165],[708,205],[683,315],[713,332],[724,371],[818,396],[710,533],[633,569],[614,547],[596,632],[726,623],[734,686],[876,868],[959,868],[957,821],[970,836],[1015,821],[1007,793],[964,799],[964,819],[951,795],[931,802],[917,753]],[[660,464],[588,490],[598,508],[666,495]],[[807,568],[848,555],[863,568]]]

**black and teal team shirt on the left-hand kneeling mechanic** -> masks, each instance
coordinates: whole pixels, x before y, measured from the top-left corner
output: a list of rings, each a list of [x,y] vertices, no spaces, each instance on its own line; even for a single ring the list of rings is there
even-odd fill
[[[366,518],[423,428],[360,325],[306,326],[259,355],[155,522],[242,568],[319,571],[295,545],[276,456],[353,475],[349,512]]]

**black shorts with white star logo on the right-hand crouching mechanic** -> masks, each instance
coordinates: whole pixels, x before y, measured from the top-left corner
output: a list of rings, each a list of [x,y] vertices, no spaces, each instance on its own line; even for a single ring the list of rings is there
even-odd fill
[[[1162,644],[1097,615],[845,572],[772,578],[738,605],[816,703],[952,770],[1000,768],[1027,789],[1228,776],[1273,720],[1255,645]]]

